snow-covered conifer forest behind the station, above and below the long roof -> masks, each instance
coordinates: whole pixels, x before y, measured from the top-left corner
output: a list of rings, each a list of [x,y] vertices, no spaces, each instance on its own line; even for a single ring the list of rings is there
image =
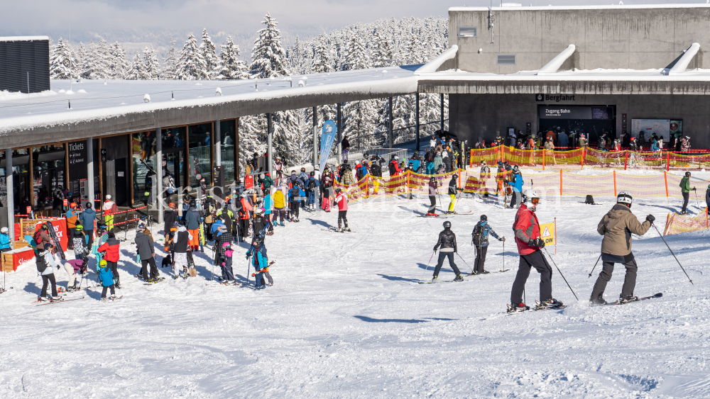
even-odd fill
[[[120,43],[68,43],[59,38],[50,48],[50,75],[53,79],[263,79],[351,69],[422,64],[446,50],[448,20],[439,18],[381,19],[356,23],[310,40],[295,38],[293,45],[282,43],[278,22],[266,13],[263,28],[249,57],[231,37],[215,44],[207,29],[201,38],[194,34],[180,47],[171,39],[160,57],[146,47],[132,59]],[[444,96],[444,118],[448,118]],[[318,121],[335,119],[337,106],[319,106]],[[342,104],[343,133],[351,148],[386,147],[387,99],[354,101]],[[438,130],[438,94],[420,94],[422,137]],[[430,124],[426,124],[430,123]],[[395,144],[412,140],[415,130],[415,96],[393,99]],[[446,126],[447,124],[445,124]],[[280,111],[273,114],[275,152],[288,164],[307,162],[312,157],[312,108]],[[266,116],[240,118],[241,157],[266,152]]]

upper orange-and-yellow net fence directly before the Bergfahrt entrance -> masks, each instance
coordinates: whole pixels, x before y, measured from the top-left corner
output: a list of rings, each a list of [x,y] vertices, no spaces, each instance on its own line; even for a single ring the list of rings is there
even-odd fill
[[[701,169],[710,167],[710,154],[677,154],[675,152],[600,151],[578,148],[570,151],[518,150],[501,145],[483,150],[471,150],[469,167],[486,161],[489,165],[508,162],[525,167],[574,169],[575,167]]]

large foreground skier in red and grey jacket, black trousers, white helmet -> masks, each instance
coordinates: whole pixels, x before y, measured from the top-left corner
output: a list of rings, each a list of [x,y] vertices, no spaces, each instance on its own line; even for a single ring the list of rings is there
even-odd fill
[[[528,208],[526,203],[532,203]],[[515,231],[515,243],[518,244],[520,254],[520,264],[518,274],[513,282],[513,289],[510,291],[510,308],[508,312],[523,311],[530,309],[523,303],[523,291],[525,282],[530,276],[530,269],[535,267],[540,273],[540,305],[543,308],[557,308],[562,303],[552,298],[552,267],[547,263],[547,259],[540,251],[545,247],[545,241],[540,238],[540,223],[535,215],[535,208],[540,202],[540,195],[536,190],[528,189],[523,193],[523,203],[520,204],[515,213],[513,230]]]

